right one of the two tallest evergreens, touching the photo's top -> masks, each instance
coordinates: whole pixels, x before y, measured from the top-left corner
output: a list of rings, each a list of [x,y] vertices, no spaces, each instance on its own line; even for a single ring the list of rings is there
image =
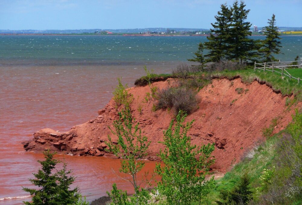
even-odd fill
[[[238,3],[235,1],[232,12],[232,23],[230,28],[230,45],[227,58],[229,60],[235,59],[237,62],[242,63],[244,60],[250,60],[252,57],[257,57],[255,42],[248,38],[252,32],[249,31],[251,23],[246,21],[249,9],[245,9],[243,1]]]

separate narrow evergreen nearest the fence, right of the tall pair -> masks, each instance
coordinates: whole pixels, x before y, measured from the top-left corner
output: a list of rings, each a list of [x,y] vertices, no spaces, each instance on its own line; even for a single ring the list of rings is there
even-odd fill
[[[264,57],[265,62],[277,61],[273,54],[280,54],[280,48],[282,47],[280,41],[280,34],[276,25],[275,15],[268,19],[268,26],[263,28],[263,33],[266,35],[264,41],[262,41],[262,48],[259,50]]]

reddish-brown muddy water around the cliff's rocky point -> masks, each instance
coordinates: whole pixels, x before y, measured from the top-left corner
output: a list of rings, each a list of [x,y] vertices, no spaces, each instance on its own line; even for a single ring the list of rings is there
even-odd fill
[[[149,65],[156,73],[170,73],[177,63]],[[135,69],[137,68],[137,69]],[[22,190],[33,187],[28,178],[37,172],[40,153],[24,152],[21,142],[32,138],[43,128],[60,132],[97,116],[112,97],[117,77],[133,86],[144,74],[143,65],[127,66],[5,66],[0,69],[0,204],[21,204],[30,200]],[[118,170],[119,160],[105,157],[65,158],[73,170],[83,196],[88,201],[106,196],[114,182],[118,188],[131,190],[131,184],[119,179],[111,170]],[[152,170],[154,162],[146,161]]]

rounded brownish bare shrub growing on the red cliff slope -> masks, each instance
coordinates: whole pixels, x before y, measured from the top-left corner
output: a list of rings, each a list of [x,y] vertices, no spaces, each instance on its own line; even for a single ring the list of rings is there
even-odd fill
[[[196,93],[196,91],[186,87],[161,89],[157,94],[156,109],[174,107],[176,113],[183,110],[190,114],[197,108],[199,102]]]

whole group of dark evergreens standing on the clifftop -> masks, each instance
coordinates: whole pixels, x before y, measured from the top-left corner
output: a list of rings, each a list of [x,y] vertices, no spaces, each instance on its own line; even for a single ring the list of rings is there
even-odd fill
[[[268,19],[268,26],[263,28],[265,40],[249,38],[251,23],[246,21],[249,9],[243,1],[235,1],[232,6],[222,4],[212,23],[211,34],[205,43],[198,45],[196,57],[189,61],[207,62],[235,61],[238,63],[253,61],[276,61],[273,54],[280,53],[281,41],[278,27],[275,26],[275,15]],[[209,52],[203,55],[203,50]]]

